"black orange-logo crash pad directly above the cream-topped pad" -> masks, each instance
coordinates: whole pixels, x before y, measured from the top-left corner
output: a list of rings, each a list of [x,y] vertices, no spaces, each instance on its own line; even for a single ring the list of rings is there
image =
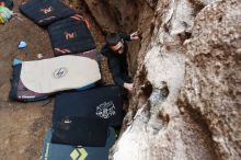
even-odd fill
[[[48,26],[55,56],[79,54],[95,49],[93,37],[84,19],[74,14]]]

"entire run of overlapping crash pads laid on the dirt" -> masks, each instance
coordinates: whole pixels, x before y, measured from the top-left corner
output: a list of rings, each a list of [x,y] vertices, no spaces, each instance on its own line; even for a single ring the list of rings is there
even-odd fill
[[[36,101],[57,93],[41,159],[107,160],[123,107],[117,87],[94,85],[101,75],[88,21],[58,0],[28,0],[20,10],[47,27],[55,54],[13,60],[11,98]]]

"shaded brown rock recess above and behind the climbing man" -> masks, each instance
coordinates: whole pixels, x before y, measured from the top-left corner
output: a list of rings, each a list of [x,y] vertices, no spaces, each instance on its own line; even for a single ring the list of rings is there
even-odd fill
[[[152,20],[154,10],[145,0],[83,1],[88,5],[96,24],[101,26],[104,35],[111,32],[129,34],[139,31],[139,33],[141,33],[141,39],[139,42],[133,42],[129,44],[129,71],[134,77],[137,71],[138,61],[140,61],[138,60],[138,57],[146,53],[141,48],[142,45],[146,46],[149,42],[150,21]],[[141,58],[144,58],[144,56],[141,56]]]

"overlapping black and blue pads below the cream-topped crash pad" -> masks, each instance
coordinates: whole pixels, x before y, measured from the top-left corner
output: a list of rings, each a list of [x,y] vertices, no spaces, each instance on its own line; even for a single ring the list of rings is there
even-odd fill
[[[56,96],[53,127],[44,139],[42,160],[107,160],[122,125],[117,87],[64,92]]]

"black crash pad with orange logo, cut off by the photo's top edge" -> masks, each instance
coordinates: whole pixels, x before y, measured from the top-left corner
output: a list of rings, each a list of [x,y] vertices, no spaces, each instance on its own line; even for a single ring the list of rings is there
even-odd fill
[[[28,0],[20,11],[38,25],[48,25],[76,12],[59,0]]]

